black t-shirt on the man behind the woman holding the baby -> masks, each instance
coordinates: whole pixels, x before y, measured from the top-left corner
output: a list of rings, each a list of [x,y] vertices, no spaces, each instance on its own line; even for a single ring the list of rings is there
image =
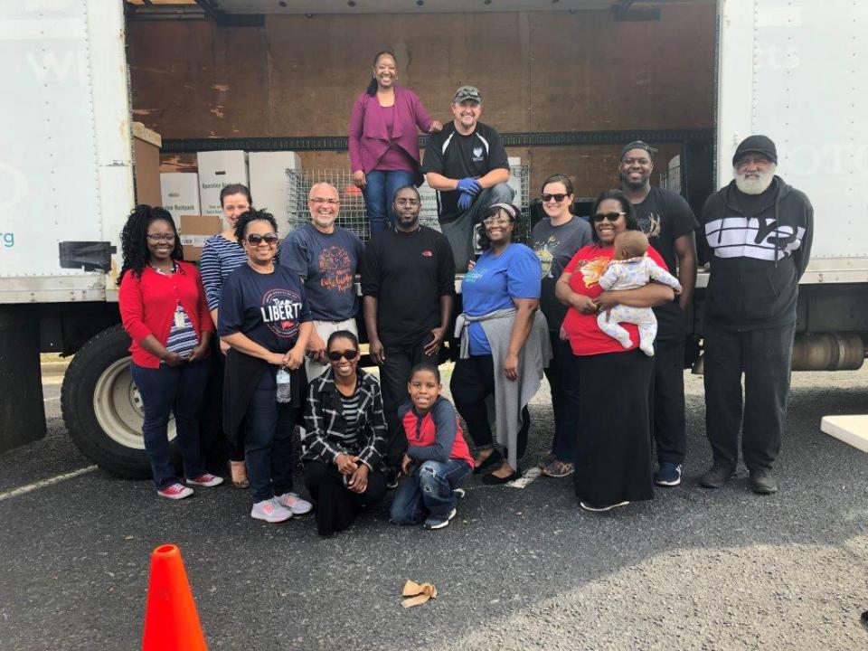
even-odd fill
[[[666,267],[678,277],[678,254],[675,240],[692,233],[699,227],[690,205],[681,194],[659,187],[652,187],[642,203],[634,203],[639,228],[648,236],[651,246],[664,259]],[[684,312],[678,298],[672,303],[655,307],[657,338],[673,339],[684,336]]]

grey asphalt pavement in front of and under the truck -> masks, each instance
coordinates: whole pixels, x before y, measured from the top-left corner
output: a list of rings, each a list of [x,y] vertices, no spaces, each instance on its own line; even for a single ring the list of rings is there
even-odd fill
[[[250,495],[231,487],[171,503],[99,469],[58,481],[90,462],[48,378],[48,435],[0,456],[0,649],[139,648],[149,555],[164,542],[181,548],[212,649],[868,646],[868,458],[819,429],[826,414],[868,412],[868,369],[794,373],[769,496],[750,493],[743,467],[721,490],[697,486],[710,461],[703,388],[685,377],[684,485],[651,502],[588,514],[569,478],[474,479],[444,530],[392,526],[382,505],[331,539],[310,517],[251,520]],[[611,395],[617,410],[617,383]],[[551,440],[546,388],[531,414],[526,466]],[[438,599],[401,608],[407,579],[433,582]]]

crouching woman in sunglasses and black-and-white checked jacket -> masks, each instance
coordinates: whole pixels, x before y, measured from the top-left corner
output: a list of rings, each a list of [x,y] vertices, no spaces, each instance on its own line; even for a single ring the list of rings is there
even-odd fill
[[[324,536],[344,531],[363,506],[382,500],[382,456],[388,449],[380,382],[359,370],[359,340],[338,330],[328,337],[326,351],[329,368],[307,389],[301,441],[316,531]]]

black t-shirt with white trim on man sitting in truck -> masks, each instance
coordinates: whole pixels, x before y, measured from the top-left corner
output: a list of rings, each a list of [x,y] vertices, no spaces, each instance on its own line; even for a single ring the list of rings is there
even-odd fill
[[[476,123],[469,136],[459,134],[455,122],[449,122],[429,138],[425,147],[422,174],[436,172],[451,179],[479,178],[494,169],[508,170],[509,160],[500,134],[482,122]],[[463,212],[458,210],[459,194],[458,190],[437,193],[440,222],[452,222]]]

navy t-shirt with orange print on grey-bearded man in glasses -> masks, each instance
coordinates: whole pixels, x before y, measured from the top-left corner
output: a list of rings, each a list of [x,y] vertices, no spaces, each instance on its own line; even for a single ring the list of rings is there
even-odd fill
[[[363,248],[352,231],[335,226],[324,233],[309,223],[280,245],[280,264],[303,278],[316,321],[345,321],[358,314],[354,282]]]

